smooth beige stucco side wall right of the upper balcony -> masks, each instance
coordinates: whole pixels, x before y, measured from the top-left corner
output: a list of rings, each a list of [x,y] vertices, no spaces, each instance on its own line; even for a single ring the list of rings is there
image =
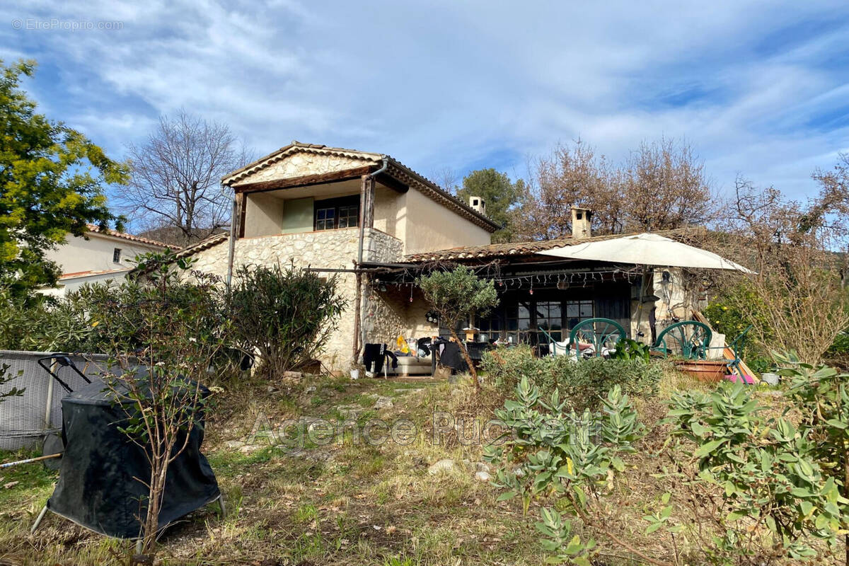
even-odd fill
[[[400,212],[405,226],[399,235],[405,255],[491,243],[492,234],[419,191],[410,189],[405,196]]]

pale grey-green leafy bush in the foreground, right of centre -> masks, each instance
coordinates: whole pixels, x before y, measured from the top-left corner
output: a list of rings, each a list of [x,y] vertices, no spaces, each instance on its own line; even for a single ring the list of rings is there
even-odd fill
[[[485,458],[499,466],[495,483],[506,490],[499,501],[521,496],[527,513],[532,498],[562,497],[583,524],[599,527],[600,534],[621,545],[619,537],[604,529],[599,500],[614,490],[613,478],[625,470],[623,457],[636,451],[634,443],[644,427],[618,385],[600,401],[598,414],[570,411],[557,389],[543,397],[523,377],[514,399],[495,412],[510,432],[486,447]],[[573,535],[571,522],[551,509],[543,508],[542,519],[537,523],[542,546],[554,554],[548,561],[589,566],[595,541]]]

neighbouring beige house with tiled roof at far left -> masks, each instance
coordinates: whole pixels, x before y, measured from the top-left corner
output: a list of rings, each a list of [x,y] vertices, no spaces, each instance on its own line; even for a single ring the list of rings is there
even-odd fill
[[[51,249],[47,259],[56,262],[62,270],[58,285],[45,289],[44,294],[63,295],[78,289],[83,283],[94,283],[124,277],[135,264],[136,255],[176,249],[148,238],[107,230],[88,225],[85,237],[68,236],[65,244]]]

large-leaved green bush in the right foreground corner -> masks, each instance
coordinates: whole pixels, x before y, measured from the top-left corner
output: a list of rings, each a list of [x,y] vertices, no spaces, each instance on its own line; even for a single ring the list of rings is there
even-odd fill
[[[694,468],[674,474],[691,491],[696,530],[717,563],[812,558],[807,537],[834,540],[847,503],[817,460],[816,444],[789,420],[764,416],[744,384],[672,397],[672,434]],[[681,462],[677,456],[676,461]]]

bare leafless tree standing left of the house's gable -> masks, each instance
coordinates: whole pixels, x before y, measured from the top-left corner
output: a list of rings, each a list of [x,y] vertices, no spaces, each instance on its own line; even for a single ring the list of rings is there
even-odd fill
[[[133,221],[183,245],[229,225],[232,197],[219,183],[248,163],[250,152],[227,125],[181,109],[161,116],[128,153],[132,177],[118,201]]]

